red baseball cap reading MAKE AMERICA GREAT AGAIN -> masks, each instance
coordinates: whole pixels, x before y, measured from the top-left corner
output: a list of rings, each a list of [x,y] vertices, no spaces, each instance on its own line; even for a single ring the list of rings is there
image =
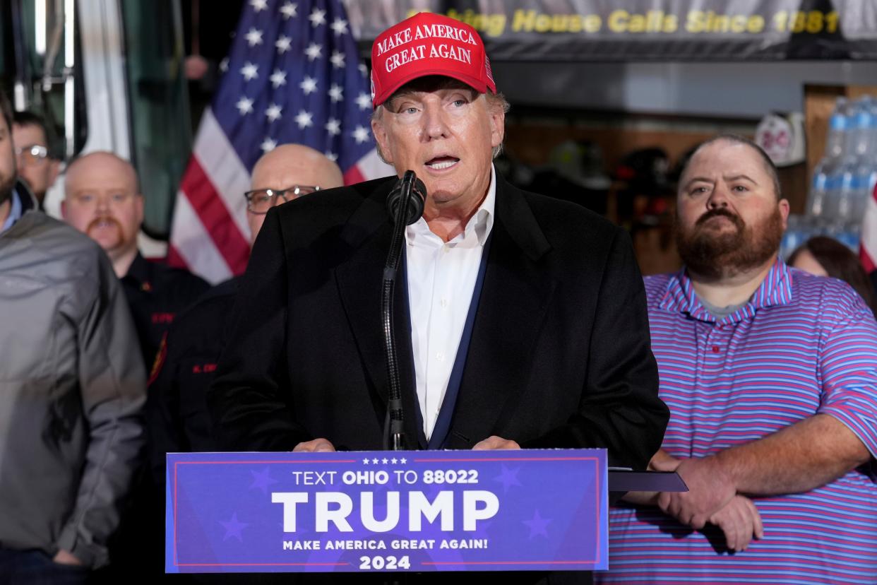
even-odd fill
[[[459,20],[420,12],[389,27],[372,45],[372,105],[425,75],[444,75],[479,93],[496,93],[481,36]]]

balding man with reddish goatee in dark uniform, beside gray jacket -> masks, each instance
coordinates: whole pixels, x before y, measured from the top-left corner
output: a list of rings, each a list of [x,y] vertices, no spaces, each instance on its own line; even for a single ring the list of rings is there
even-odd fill
[[[143,196],[131,163],[113,153],[89,153],[68,167],[61,214],[110,256],[137,326],[146,371],[176,313],[209,288],[179,268],[149,262],[137,249]]]

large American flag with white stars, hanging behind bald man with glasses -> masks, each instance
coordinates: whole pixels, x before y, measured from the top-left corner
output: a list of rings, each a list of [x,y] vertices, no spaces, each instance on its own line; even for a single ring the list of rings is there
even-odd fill
[[[277,145],[311,146],[351,184],[393,174],[374,150],[371,93],[340,0],[249,0],[177,193],[168,263],[210,282],[249,258],[250,172]]]

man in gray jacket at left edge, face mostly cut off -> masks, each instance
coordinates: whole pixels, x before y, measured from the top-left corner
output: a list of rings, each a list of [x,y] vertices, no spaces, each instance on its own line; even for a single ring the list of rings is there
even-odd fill
[[[146,375],[110,260],[34,210],[0,91],[0,585],[108,562],[143,443]]]

